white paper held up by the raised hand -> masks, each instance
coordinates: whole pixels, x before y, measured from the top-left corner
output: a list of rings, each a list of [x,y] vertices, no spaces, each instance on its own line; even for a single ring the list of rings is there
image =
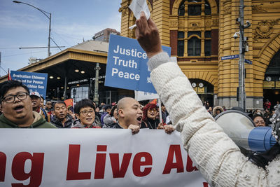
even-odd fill
[[[146,0],[133,0],[132,4],[130,4],[128,7],[134,13],[134,16],[137,20],[140,18],[142,11],[145,13],[147,20],[150,18],[151,13],[148,9]]]

